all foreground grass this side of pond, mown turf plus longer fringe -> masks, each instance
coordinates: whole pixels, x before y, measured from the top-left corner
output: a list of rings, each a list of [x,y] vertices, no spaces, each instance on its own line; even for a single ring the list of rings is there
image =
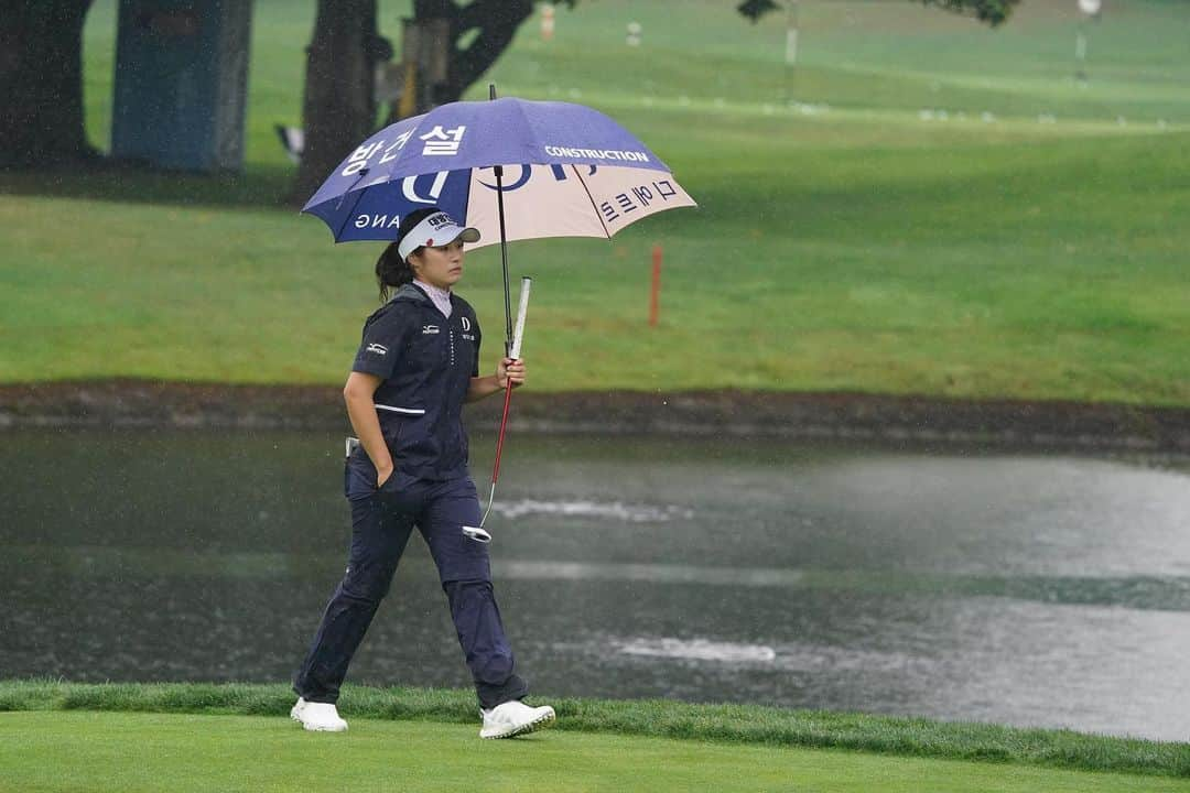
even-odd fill
[[[1163,791],[1190,778],[1190,744],[988,724],[564,699],[555,731],[490,744],[475,738],[471,692],[347,687],[346,736],[301,734],[280,718],[292,701],[282,685],[0,681],[0,764],[18,789],[70,789],[82,773],[109,786],[89,789],[176,774],[271,789],[294,768],[351,787],[382,764],[412,776],[377,783],[445,786],[470,769],[518,789],[553,779],[563,789]],[[196,768],[205,775],[188,779]]]

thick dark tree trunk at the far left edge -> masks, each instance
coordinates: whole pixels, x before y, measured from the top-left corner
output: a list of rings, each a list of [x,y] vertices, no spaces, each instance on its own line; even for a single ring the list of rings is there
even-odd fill
[[[82,111],[82,26],[92,0],[0,1],[0,166],[99,156]]]

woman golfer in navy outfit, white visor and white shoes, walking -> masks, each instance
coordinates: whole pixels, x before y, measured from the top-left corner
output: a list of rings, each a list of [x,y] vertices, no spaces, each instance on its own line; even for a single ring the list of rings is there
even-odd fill
[[[480,736],[507,738],[553,722],[552,707],[521,701],[528,687],[500,622],[488,546],[462,530],[480,525],[463,403],[525,382],[525,365],[511,358],[494,376],[478,376],[480,322],[451,291],[463,276],[463,243],[478,239],[446,213],[420,209],[376,262],[384,304],[364,323],[343,389],[359,438],[346,462],[350,559],[294,679],[299,699],[290,716],[307,730],[347,729],[336,709],[339,686],[414,527],[438,566],[475,680]]]

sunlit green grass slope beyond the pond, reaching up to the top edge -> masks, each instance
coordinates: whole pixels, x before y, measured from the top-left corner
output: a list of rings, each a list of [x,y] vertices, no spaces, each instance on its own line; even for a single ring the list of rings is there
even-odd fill
[[[1190,404],[1178,33],[1190,10],[1113,6],[1081,88],[1075,4],[1023,4],[991,31],[908,1],[809,0],[788,81],[781,14],[751,26],[732,5],[581,2],[558,12],[551,44],[526,24],[494,68],[505,93],[577,94],[621,119],[701,204],[610,244],[513,246],[513,272],[536,278],[534,390]],[[383,6],[395,38],[406,6]],[[100,145],[113,11],[96,2],[86,33]],[[14,296],[0,382],[343,379],[375,304],[378,246],[332,246],[319,221],[275,208],[292,166],[271,126],[299,120],[312,13],[257,4],[244,175],[0,175],[0,289]],[[624,44],[630,19],[640,49]],[[785,99],[829,109],[806,115]],[[951,120],[925,121],[923,108]],[[649,328],[654,243],[663,308]],[[495,340],[497,256],[468,262],[461,291]]]

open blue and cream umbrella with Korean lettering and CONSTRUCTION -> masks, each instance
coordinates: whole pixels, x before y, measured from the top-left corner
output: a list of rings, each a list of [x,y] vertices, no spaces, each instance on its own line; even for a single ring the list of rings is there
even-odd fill
[[[490,101],[441,105],[375,133],[302,212],[321,218],[337,243],[392,241],[401,218],[430,206],[478,228],[471,247],[500,241],[511,354],[508,241],[609,239],[641,218],[695,202],[657,155],[602,113],[569,102],[495,99],[493,88]],[[506,395],[497,449],[507,417]]]

